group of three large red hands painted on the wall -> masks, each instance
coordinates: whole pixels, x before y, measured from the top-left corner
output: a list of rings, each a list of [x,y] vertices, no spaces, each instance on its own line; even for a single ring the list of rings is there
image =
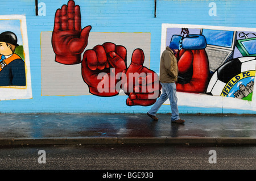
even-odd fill
[[[93,95],[115,96],[122,90],[129,96],[127,106],[154,104],[161,86],[155,71],[143,65],[143,49],[133,50],[129,66],[123,45],[105,42],[85,50],[91,28],[81,29],[80,6],[74,1],[58,9],[52,32],[55,62],[67,66],[81,64],[82,79]]]

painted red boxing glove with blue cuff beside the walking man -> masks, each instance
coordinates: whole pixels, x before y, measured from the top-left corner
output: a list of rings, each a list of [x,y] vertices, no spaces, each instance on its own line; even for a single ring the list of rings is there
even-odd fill
[[[173,40],[178,40],[177,35]],[[181,40],[181,49],[175,55],[179,68],[177,91],[205,93],[209,79],[206,45],[205,37],[201,35],[187,35]]]

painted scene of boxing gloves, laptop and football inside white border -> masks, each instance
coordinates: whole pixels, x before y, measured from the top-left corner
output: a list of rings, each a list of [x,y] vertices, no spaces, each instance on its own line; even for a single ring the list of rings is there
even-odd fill
[[[255,32],[167,28],[166,44],[179,45],[177,91],[252,100]]]

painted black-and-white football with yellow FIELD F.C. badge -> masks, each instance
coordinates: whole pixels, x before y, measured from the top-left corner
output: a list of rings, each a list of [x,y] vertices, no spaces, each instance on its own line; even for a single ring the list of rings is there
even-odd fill
[[[207,94],[251,100],[256,57],[239,57],[220,66],[209,81]]]

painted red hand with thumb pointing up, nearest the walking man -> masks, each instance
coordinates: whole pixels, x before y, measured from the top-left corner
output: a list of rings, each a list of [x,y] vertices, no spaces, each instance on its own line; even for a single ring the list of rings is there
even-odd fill
[[[160,96],[162,86],[159,83],[158,75],[143,66],[143,63],[143,50],[135,49],[129,68],[123,71],[126,81],[123,81],[122,89],[129,96],[126,100],[127,106],[150,106]]]

